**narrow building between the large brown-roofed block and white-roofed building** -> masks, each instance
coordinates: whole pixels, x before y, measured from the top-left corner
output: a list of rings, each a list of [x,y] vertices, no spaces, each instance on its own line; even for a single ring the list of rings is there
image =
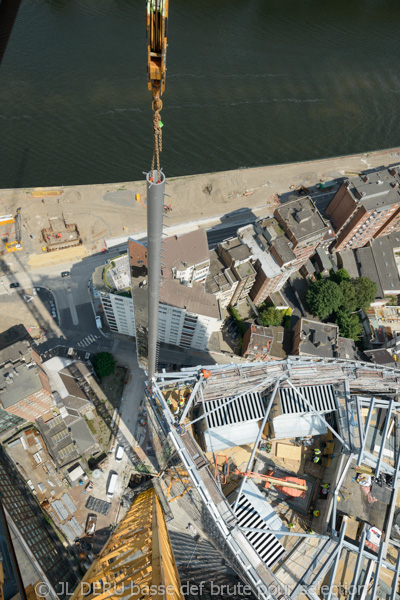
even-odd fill
[[[253,254],[249,246],[238,237],[225,240],[219,244],[217,252],[222,262],[231,270],[237,280],[237,285],[229,303],[231,306],[235,306],[246,300],[256,279],[257,273],[252,264]]]

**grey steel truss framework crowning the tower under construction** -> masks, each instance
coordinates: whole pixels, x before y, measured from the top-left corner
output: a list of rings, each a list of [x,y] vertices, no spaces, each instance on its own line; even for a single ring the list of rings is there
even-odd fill
[[[180,418],[176,418],[166,403],[163,390],[171,389],[171,386],[174,385],[179,387],[185,381],[190,383],[193,391]],[[342,397],[340,403],[338,401],[337,414],[339,416],[336,426],[332,426],[332,421],[329,419],[327,421],[326,414],[323,415],[315,410],[304,393],[300,391],[301,388],[304,389],[304,386],[317,385],[341,386]],[[231,505],[225,498],[221,488],[215,482],[202,449],[190,431],[190,426],[194,423],[198,423],[201,419],[207,421],[207,416],[213,410],[220,410],[224,406],[226,410],[229,410],[233,402],[255,391],[259,392],[264,398],[265,414],[262,420],[262,425],[264,425],[268,419],[278,389],[288,388],[295,394],[299,401],[303,402],[303,406],[306,405],[309,414],[315,418],[319,418],[332,431],[335,438],[340,442],[342,452],[336,471],[336,478],[333,485],[331,485],[329,493],[330,510],[325,530],[319,532],[317,535],[314,533],[304,533],[300,536],[291,531],[285,532],[285,535],[292,536],[294,539],[297,538],[299,540],[298,543],[303,543],[301,540],[306,541],[308,538],[313,537],[318,540],[318,547],[321,550],[324,547],[327,548],[323,565],[317,569],[314,568],[313,571],[312,567],[315,567],[315,563],[312,562],[308,568],[305,568],[303,575],[299,575],[296,586],[301,585],[303,593],[308,598],[312,600],[319,599],[320,596],[315,591],[316,586],[321,584],[324,577],[329,576],[332,588],[342,553],[354,553],[357,560],[352,583],[357,586],[361,585],[360,573],[362,573],[363,565],[365,566],[366,564],[366,575],[362,582],[363,594],[367,594],[365,590],[368,585],[372,587],[372,596],[368,592],[363,597],[376,597],[379,574],[382,567],[384,567],[386,571],[393,574],[391,598],[395,599],[400,570],[400,550],[396,565],[388,562],[386,555],[389,544],[392,544],[393,547],[397,546],[396,541],[393,541],[390,536],[395,502],[400,486],[400,446],[396,448],[396,455],[394,457],[395,467],[393,468],[384,461],[384,444],[389,428],[393,427],[393,419],[396,421],[396,432],[399,429],[400,418],[396,413],[400,408],[400,404],[397,402],[397,394],[400,393],[399,370],[357,361],[316,359],[314,357],[289,357],[283,361],[268,363],[199,366],[184,369],[176,374],[157,374],[153,390],[148,392],[148,401],[149,405],[151,404],[153,409],[158,413],[158,418],[162,422],[164,431],[168,431],[169,440],[189,474],[192,489],[201,498],[203,506],[208,511],[221,538],[223,538],[227,556],[234,556],[237,564],[241,566],[238,574],[246,583],[251,585],[259,598],[265,600],[294,599],[297,598],[298,591],[294,595],[291,595],[291,592],[284,588],[278,581],[276,572],[274,575],[260,557],[256,556],[255,549],[246,538],[246,528],[241,528],[237,522],[235,514],[237,501]],[[221,399],[224,399],[222,404]],[[207,407],[207,410],[204,410],[204,405],[207,402],[210,402],[210,406],[213,406],[215,401],[218,401],[217,409],[209,409]],[[196,406],[199,408],[203,406],[203,414],[190,421],[192,409]],[[373,457],[366,450],[366,438],[374,406],[387,411],[383,426],[383,442],[378,457]],[[364,427],[361,408],[367,407],[369,408],[369,412]],[[263,427],[260,428],[260,431],[262,429]],[[398,433],[396,433],[397,435]],[[251,470],[252,464],[254,464],[259,443],[260,435],[254,440],[248,470]],[[392,475],[389,516],[378,556],[367,549],[364,535],[361,537],[359,544],[349,542],[345,539],[346,517],[344,517],[340,532],[337,532],[335,529],[337,494],[346,474],[350,466],[361,465],[363,461],[365,462],[364,459],[366,458],[370,461],[366,464],[371,464],[371,457],[374,459],[374,469],[378,474],[384,471],[389,476]],[[245,478],[241,482],[238,498],[244,484]],[[330,522],[331,525],[329,524]],[[263,529],[260,530],[260,533],[265,533],[266,531],[266,529]],[[334,597],[330,592],[329,598],[333,600]]]

